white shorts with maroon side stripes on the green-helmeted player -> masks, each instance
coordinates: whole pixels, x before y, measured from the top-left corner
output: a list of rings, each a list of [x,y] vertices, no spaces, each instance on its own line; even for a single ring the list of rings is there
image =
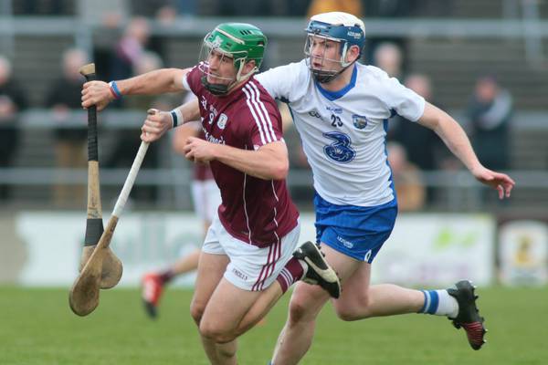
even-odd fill
[[[225,278],[240,289],[259,291],[269,287],[290,261],[297,248],[299,235],[298,222],[289,234],[281,237],[279,243],[260,248],[229,235],[216,215],[205,235],[202,251],[212,255],[227,255],[230,263]]]

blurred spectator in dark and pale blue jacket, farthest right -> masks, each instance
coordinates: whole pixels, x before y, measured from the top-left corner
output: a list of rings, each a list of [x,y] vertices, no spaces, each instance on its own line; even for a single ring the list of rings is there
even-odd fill
[[[471,141],[479,159],[495,170],[509,167],[512,112],[510,92],[492,76],[479,78],[467,109]]]

